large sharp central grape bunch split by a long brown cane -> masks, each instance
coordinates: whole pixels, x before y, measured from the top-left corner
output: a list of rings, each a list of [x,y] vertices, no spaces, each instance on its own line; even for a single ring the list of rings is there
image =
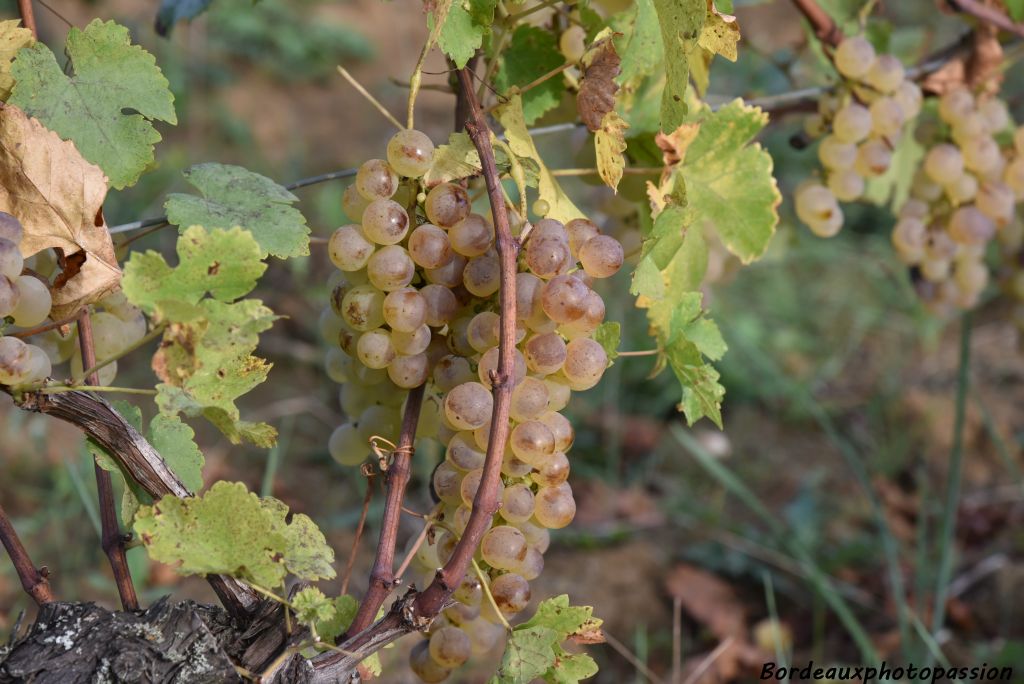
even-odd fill
[[[338,462],[361,463],[375,436],[395,441],[406,390],[426,385],[417,434],[440,442],[444,459],[432,475],[437,522],[413,564],[424,583],[451,557],[482,476],[501,280],[494,225],[473,213],[466,189],[440,183],[421,193],[432,155],[426,135],[404,130],[389,141],[386,161],[359,167],[342,201],[358,223],[341,226],[329,242],[340,273],[321,319],[322,333],[337,341],[328,374],[342,383],[342,409],[351,419],[330,438]],[[428,682],[494,646],[503,618],[526,606],[548,530],[575,514],[566,481],[574,433],[558,412],[572,390],[596,385],[608,364],[592,337],[605,310],[591,285],[618,270],[622,245],[583,218],[517,220],[514,232],[522,249],[511,431],[501,508],[477,553],[487,587],[471,571],[455,593],[458,603],[414,649],[413,669]]]

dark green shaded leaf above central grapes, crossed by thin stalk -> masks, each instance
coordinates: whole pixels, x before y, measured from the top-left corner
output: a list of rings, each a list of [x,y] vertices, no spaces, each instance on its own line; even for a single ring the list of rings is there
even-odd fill
[[[495,75],[495,87],[499,92],[510,95],[564,62],[565,57],[558,51],[558,43],[550,31],[521,25],[512,34],[512,41],[502,55],[502,66]],[[523,119],[527,125],[558,106],[565,89],[562,82],[560,75],[555,76],[520,95]]]

